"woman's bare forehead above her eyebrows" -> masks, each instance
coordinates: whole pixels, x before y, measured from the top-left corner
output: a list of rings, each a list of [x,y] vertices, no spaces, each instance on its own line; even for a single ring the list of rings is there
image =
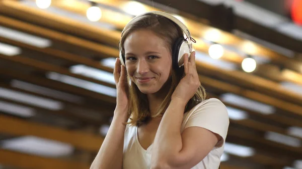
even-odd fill
[[[167,50],[166,42],[150,30],[137,30],[128,35],[124,42],[125,53]]]

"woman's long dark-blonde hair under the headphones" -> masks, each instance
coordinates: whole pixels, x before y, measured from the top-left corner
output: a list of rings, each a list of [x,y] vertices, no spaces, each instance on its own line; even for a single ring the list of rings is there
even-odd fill
[[[131,21],[130,24],[128,24],[121,35],[121,40],[119,42],[119,49],[122,53],[122,55],[125,54],[124,50],[124,42],[128,35],[130,35],[132,32],[138,30],[138,29],[146,29],[153,31],[158,37],[163,39],[166,43],[167,49],[170,50],[170,53],[172,54],[172,49],[175,41],[179,39],[180,37],[183,37],[183,31],[181,28],[176,25],[173,21],[158,16],[155,14],[146,14],[139,18],[135,18]],[[172,68],[172,65],[171,65]],[[164,101],[159,106],[159,109],[156,114],[153,116],[149,112],[149,104],[148,99],[145,94],[139,91],[138,87],[131,81],[131,84],[129,85],[129,105],[128,105],[128,116],[129,116],[129,122],[127,124],[133,125],[141,125],[144,123],[147,123],[151,118],[153,117],[159,117],[162,116],[166,109],[168,108],[170,102],[171,102],[171,96],[177,87],[178,83],[182,79],[182,77],[185,75],[184,68],[181,67],[180,69],[171,69],[171,78],[167,81],[169,83],[169,91],[166,95]],[[128,78],[128,82],[130,79]],[[167,84],[165,84],[167,85]],[[185,112],[190,110],[192,107],[200,103],[201,101],[205,100],[206,98],[206,92],[203,86],[199,86],[198,90],[194,94],[194,96],[188,101]]]

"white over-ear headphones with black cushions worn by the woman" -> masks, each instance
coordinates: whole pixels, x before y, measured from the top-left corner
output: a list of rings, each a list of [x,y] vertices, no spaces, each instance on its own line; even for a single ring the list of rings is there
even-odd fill
[[[166,18],[170,19],[171,21],[173,21],[175,24],[177,24],[182,29],[182,31],[184,32],[184,34],[186,35],[187,38],[180,37],[174,43],[173,49],[172,49],[172,61],[173,61],[174,67],[183,66],[183,63],[184,63],[183,55],[185,53],[187,53],[190,56],[191,52],[194,51],[193,46],[192,46],[192,40],[194,40],[194,39],[191,37],[189,29],[177,18],[173,17],[170,14],[164,13],[164,12],[159,12],[159,11],[147,12],[147,13],[138,15],[135,18],[140,17],[145,14],[155,14],[155,15],[166,17]],[[133,18],[133,19],[135,19],[135,18]],[[133,19],[128,24],[130,24],[133,21]],[[127,27],[127,25],[125,26],[125,28]],[[194,40],[194,42],[195,42],[195,40]],[[119,58],[121,60],[121,63],[125,66],[125,56],[122,55],[121,51],[119,54]]]

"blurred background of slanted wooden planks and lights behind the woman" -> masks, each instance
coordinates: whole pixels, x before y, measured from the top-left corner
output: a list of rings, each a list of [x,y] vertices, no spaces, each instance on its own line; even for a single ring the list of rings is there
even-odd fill
[[[302,168],[302,0],[0,0],[0,168],[90,167],[121,30],[147,11],[197,41],[201,84],[230,116],[221,168]]]

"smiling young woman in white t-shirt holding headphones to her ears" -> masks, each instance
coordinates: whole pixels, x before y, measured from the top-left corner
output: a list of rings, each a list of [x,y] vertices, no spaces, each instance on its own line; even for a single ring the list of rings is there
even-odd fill
[[[114,68],[116,109],[92,169],[219,167],[228,112],[206,99],[191,41],[166,13],[127,24]]]

